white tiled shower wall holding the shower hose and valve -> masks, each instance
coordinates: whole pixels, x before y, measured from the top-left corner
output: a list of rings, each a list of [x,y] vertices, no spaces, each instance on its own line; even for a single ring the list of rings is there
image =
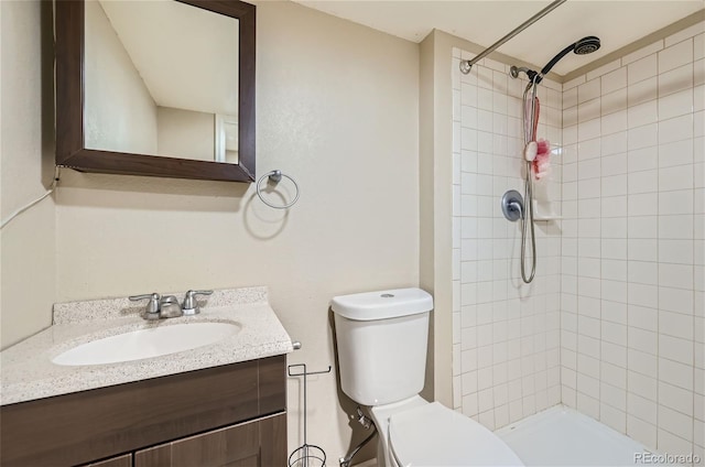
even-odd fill
[[[456,410],[490,430],[561,401],[561,231],[538,222],[536,279],[520,276],[520,224],[499,199],[523,192],[521,95],[505,64],[485,59],[469,75],[454,52],[453,374]],[[464,57],[466,58],[466,57]],[[538,134],[561,149],[561,85],[544,82]],[[561,166],[536,191],[560,211]],[[547,205],[546,205],[547,206]]]

